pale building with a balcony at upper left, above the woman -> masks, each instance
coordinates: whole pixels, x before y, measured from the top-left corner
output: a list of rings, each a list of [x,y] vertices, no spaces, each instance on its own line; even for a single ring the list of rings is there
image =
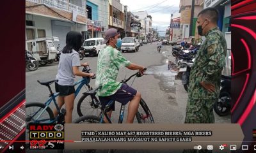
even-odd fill
[[[26,0],[26,40],[57,36],[62,49],[68,31],[87,31],[86,20],[86,1]]]

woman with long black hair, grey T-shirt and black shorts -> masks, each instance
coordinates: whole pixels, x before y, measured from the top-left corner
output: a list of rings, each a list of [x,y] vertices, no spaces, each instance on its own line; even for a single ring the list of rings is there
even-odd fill
[[[56,89],[60,92],[58,97],[59,108],[61,108],[64,103],[66,106],[65,123],[72,122],[72,111],[75,99],[75,76],[94,76],[93,73],[84,73],[79,71],[79,66],[88,66],[87,62],[80,64],[78,52],[82,44],[82,34],[76,31],[70,31],[66,36],[66,46],[63,48],[60,55],[58,73],[56,75],[56,80],[58,80]],[[58,115],[56,108],[54,108],[53,113],[54,117]]]

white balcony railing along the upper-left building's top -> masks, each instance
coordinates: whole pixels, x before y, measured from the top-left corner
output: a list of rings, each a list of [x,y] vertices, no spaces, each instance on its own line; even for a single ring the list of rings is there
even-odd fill
[[[38,4],[45,4],[46,6],[57,8],[57,9],[68,11],[68,12],[72,12],[74,10],[74,11],[77,11],[79,15],[86,17],[85,8],[68,3],[68,1],[65,1],[65,0],[26,0],[26,1],[31,1],[33,3],[38,3]]]

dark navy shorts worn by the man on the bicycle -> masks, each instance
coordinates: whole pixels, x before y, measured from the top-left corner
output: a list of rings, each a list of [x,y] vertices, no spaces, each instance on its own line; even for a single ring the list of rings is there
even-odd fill
[[[122,103],[122,105],[126,105],[129,101],[131,101],[132,98],[134,98],[136,93],[137,91],[132,87],[129,87],[129,85],[122,84],[120,89],[118,89],[115,94],[106,97],[99,96],[99,99],[103,108],[108,105],[109,101],[111,100],[118,101],[119,103]],[[115,110],[115,102],[113,105],[111,105],[111,110]]]

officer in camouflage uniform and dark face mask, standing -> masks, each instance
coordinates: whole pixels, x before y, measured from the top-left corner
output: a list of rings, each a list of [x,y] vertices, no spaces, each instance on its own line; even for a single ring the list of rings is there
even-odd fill
[[[185,123],[214,123],[212,106],[220,94],[221,71],[225,66],[227,43],[218,29],[218,11],[215,8],[200,11],[197,23],[198,34],[206,39],[190,72]],[[195,150],[184,150],[193,151]]]

